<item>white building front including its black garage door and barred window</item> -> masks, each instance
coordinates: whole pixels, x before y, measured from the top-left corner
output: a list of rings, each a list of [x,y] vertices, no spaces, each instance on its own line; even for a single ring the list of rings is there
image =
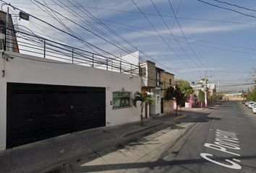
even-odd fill
[[[0,150],[140,120],[140,76],[1,51]],[[7,61],[8,59],[8,61]]]

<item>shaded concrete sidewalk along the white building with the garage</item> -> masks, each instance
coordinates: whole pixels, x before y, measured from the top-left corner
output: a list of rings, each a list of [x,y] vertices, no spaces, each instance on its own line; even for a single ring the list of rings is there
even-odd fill
[[[186,115],[189,116],[187,113]],[[83,130],[0,151],[0,173],[48,172],[104,148],[131,141],[135,136],[145,134],[153,128],[168,128],[169,125],[176,124],[174,118],[174,114],[171,114],[146,119],[145,127],[137,125],[140,122],[132,122]]]

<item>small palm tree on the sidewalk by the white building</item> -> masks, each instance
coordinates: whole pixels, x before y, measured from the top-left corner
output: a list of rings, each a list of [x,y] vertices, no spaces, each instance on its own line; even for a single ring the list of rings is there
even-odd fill
[[[143,112],[143,107],[144,107],[144,103],[145,105],[149,105],[150,103],[152,103],[152,105],[155,106],[155,98],[153,97],[153,95],[144,95],[141,92],[135,92],[135,98],[132,99],[132,105],[134,105],[135,107],[137,107],[136,103],[137,101],[140,101],[140,107],[141,107],[141,112],[140,112],[140,125],[143,125],[143,116],[142,116],[142,112]]]

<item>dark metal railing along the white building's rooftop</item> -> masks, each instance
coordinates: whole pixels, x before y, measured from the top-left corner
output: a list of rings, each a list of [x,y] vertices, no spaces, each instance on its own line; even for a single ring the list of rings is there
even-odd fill
[[[4,40],[2,40],[2,43],[4,43]],[[74,63],[107,71],[139,75],[139,65],[124,61],[121,57],[102,56],[27,32],[10,30],[7,43],[6,49],[13,52],[48,58],[63,63]]]

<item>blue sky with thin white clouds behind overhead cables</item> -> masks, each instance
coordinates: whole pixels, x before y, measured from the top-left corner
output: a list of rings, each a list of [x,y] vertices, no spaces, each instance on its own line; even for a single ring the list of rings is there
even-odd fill
[[[33,15],[17,17],[18,28],[60,43],[92,51],[69,32],[114,55],[140,50],[140,61],[175,79],[197,83],[206,74],[219,92],[247,92],[255,84],[256,1],[0,1],[7,12],[4,2],[15,7],[9,6],[13,16]]]

